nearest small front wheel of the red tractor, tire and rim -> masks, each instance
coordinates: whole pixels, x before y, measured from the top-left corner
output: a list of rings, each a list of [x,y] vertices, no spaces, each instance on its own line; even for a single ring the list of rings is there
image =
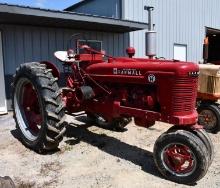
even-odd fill
[[[205,176],[208,156],[201,139],[186,130],[166,132],[154,145],[158,170],[165,178],[181,184],[194,184]]]

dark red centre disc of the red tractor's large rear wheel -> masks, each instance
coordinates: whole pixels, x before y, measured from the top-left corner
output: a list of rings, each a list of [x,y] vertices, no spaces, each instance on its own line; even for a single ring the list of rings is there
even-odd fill
[[[26,123],[28,123],[27,127],[34,135],[37,135],[40,131],[40,125],[42,124],[43,118],[40,111],[37,92],[30,82],[23,85],[21,107],[23,108]]]

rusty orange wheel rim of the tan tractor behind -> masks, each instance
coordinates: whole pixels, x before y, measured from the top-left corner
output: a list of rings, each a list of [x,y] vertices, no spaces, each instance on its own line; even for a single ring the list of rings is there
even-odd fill
[[[217,118],[211,110],[203,110],[199,114],[199,123],[206,129],[213,129],[217,124]]]

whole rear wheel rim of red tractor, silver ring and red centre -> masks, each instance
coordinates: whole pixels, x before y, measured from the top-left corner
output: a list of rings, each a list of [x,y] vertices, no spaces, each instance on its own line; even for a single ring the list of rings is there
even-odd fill
[[[28,140],[35,141],[41,130],[43,115],[37,91],[26,78],[21,78],[16,84],[14,108],[23,135]]]

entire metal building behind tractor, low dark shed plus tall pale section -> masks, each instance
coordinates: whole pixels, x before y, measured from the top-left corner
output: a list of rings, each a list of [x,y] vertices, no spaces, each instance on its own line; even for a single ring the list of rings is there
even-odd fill
[[[137,57],[145,56],[144,6],[155,8],[158,57],[202,61],[204,38],[220,35],[219,0],[82,0],[64,11],[0,4],[0,113],[10,107],[15,68],[27,61],[56,62],[53,52],[65,50],[73,33],[101,41],[110,55],[125,55],[133,46]]]

